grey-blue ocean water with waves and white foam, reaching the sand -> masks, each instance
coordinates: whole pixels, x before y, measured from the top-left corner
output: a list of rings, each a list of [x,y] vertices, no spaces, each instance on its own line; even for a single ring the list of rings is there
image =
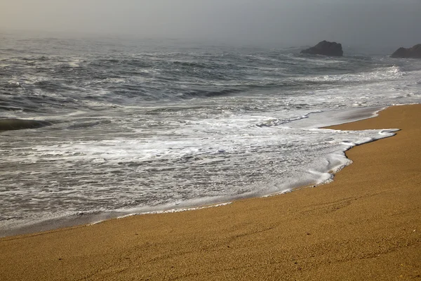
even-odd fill
[[[300,50],[0,34],[0,119],[48,124],[0,131],[0,236],[326,183],[395,128],[321,126],[421,102],[421,60]]]

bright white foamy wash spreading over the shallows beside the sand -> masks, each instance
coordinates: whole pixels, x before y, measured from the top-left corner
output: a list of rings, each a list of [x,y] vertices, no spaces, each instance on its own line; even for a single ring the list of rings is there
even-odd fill
[[[14,183],[18,189],[2,192],[1,200],[13,202],[18,199],[16,194],[31,197],[33,204],[27,207],[34,208],[36,216],[45,213],[41,216],[43,221],[49,213],[42,209],[57,200],[66,208],[65,213],[55,211],[53,216],[58,217],[91,204],[90,208],[98,208],[94,207],[98,201],[106,210],[114,205],[138,205],[114,207],[115,216],[183,210],[330,181],[331,171],[349,164],[345,150],[392,135],[391,130],[335,131],[252,125],[265,118],[236,117],[235,126],[229,118],[198,119],[159,136],[144,131],[147,138],[114,136],[69,142],[66,138],[60,141],[44,136],[39,140],[41,143],[36,142],[38,145],[15,148],[4,155],[11,165],[36,166],[16,174],[20,183],[29,183],[31,188],[18,188]],[[118,173],[114,174],[115,171]],[[10,176],[13,174],[0,174],[8,186]],[[135,203],[136,198],[139,203]],[[13,205],[11,208],[11,214],[16,214]],[[4,209],[7,213],[6,204]],[[107,213],[106,210],[102,212]],[[9,219],[0,225],[9,229],[15,223]]]

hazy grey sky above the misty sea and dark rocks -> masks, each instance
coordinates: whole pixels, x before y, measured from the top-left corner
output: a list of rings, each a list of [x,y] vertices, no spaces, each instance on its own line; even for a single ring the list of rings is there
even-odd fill
[[[421,43],[421,0],[0,0],[0,29],[412,46]]]

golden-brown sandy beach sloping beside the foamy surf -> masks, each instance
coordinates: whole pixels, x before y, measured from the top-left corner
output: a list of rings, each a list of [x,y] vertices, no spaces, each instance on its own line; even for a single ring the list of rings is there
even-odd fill
[[[0,280],[421,280],[421,105],[334,128],[402,131],[317,188],[2,238]]]

